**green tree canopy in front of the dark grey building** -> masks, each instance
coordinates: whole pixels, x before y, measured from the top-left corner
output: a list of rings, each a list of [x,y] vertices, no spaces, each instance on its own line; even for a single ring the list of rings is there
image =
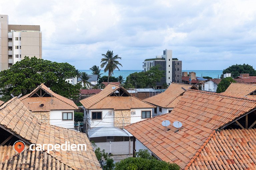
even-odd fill
[[[146,72],[135,72],[131,73],[126,77],[125,88],[135,87],[137,83],[137,88],[153,88],[156,86],[156,83],[164,77],[164,71],[159,70],[159,65],[151,67],[150,70]]]

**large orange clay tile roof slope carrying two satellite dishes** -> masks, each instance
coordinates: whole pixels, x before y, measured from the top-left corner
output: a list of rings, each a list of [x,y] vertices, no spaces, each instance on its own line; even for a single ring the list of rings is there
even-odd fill
[[[126,126],[133,136],[161,160],[187,169],[215,133],[235,118],[256,108],[256,101],[216,93],[187,90],[171,113]],[[171,124],[180,121],[178,132]]]

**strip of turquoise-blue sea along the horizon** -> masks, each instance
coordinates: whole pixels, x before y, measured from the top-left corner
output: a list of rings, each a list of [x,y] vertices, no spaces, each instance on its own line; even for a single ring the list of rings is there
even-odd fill
[[[92,71],[91,70],[79,70],[81,72],[86,72],[87,74],[91,74]],[[126,77],[134,72],[141,72],[142,70],[114,70],[114,77],[118,77],[119,75],[123,76],[124,79],[126,79]],[[223,70],[182,70],[182,71],[187,71],[189,72],[195,72],[197,77],[201,77],[201,76],[209,76],[212,78],[219,78],[220,75],[222,74]],[[108,76],[108,72],[104,73],[104,71],[101,70],[102,75],[101,76]]]

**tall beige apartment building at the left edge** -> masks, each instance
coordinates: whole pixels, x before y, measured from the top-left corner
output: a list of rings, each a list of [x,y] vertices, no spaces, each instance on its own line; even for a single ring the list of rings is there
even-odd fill
[[[25,56],[42,58],[39,25],[9,25],[8,15],[0,15],[0,71],[9,69]]]

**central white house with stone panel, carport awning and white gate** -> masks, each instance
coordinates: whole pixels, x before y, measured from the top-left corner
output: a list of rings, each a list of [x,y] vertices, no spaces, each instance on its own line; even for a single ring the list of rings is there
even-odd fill
[[[130,137],[132,135],[123,130],[123,127],[151,118],[155,108],[131,96],[122,86],[112,83],[100,93],[80,102],[84,107],[84,122],[86,122],[86,131],[90,141],[95,141],[101,149],[112,154],[132,152],[132,137]],[[109,145],[112,145],[112,150],[109,150],[111,148]]]

